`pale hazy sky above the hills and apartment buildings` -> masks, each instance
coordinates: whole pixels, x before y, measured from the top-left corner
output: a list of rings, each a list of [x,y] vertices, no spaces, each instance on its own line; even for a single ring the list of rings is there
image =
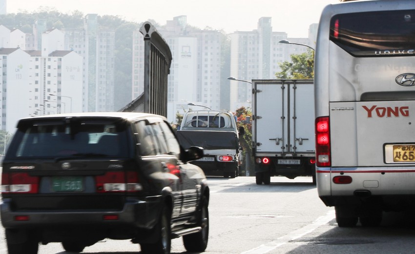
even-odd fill
[[[173,17],[187,16],[187,24],[224,30],[252,31],[259,18],[272,17],[274,32],[287,32],[290,38],[308,37],[308,28],[318,23],[323,8],[339,0],[7,0],[7,13],[37,11],[54,7],[70,14],[120,16],[125,20],[155,20],[161,25]]]

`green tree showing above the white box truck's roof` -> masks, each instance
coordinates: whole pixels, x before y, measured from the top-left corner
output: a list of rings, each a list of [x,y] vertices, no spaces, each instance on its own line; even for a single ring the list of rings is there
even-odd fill
[[[314,50],[309,49],[303,54],[292,54],[291,61],[280,62],[280,72],[275,73],[281,79],[307,79],[314,78]]]

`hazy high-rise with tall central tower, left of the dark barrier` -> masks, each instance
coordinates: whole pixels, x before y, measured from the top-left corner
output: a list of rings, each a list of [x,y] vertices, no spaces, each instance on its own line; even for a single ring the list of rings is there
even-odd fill
[[[97,14],[87,14],[83,28],[62,29],[65,50],[83,58],[83,111],[114,111],[115,30],[100,28]]]

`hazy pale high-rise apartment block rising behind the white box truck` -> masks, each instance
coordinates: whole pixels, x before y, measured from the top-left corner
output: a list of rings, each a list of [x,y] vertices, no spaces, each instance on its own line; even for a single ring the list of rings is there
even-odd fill
[[[314,29],[315,24],[311,25]],[[309,38],[315,39],[316,30],[309,30]],[[250,81],[252,79],[274,79],[280,72],[278,63],[290,61],[290,55],[302,54],[308,47],[279,43],[287,39],[290,42],[309,45],[309,38],[287,38],[285,32],[273,32],[270,17],[262,17],[257,29],[230,34],[230,76]],[[311,44],[314,45],[314,44]],[[230,109],[241,106],[250,107],[251,85],[244,81],[229,81]]]

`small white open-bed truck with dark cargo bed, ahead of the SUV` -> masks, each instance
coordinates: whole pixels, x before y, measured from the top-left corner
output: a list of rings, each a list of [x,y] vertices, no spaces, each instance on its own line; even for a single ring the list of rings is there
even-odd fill
[[[231,112],[220,110],[187,111],[176,135],[183,147],[203,147],[203,158],[191,163],[202,168],[207,176],[234,178],[239,175],[239,135]]]

